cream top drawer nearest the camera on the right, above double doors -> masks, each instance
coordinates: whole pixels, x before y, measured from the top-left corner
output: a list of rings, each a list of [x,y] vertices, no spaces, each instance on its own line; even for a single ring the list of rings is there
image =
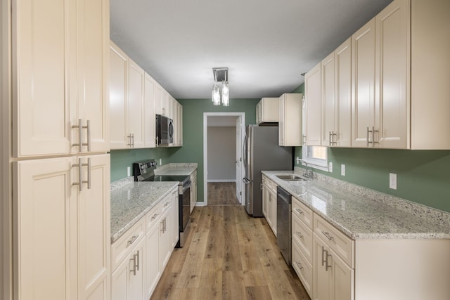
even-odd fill
[[[328,247],[340,256],[351,268],[354,268],[354,240],[341,233],[333,225],[314,214],[314,232]]]

